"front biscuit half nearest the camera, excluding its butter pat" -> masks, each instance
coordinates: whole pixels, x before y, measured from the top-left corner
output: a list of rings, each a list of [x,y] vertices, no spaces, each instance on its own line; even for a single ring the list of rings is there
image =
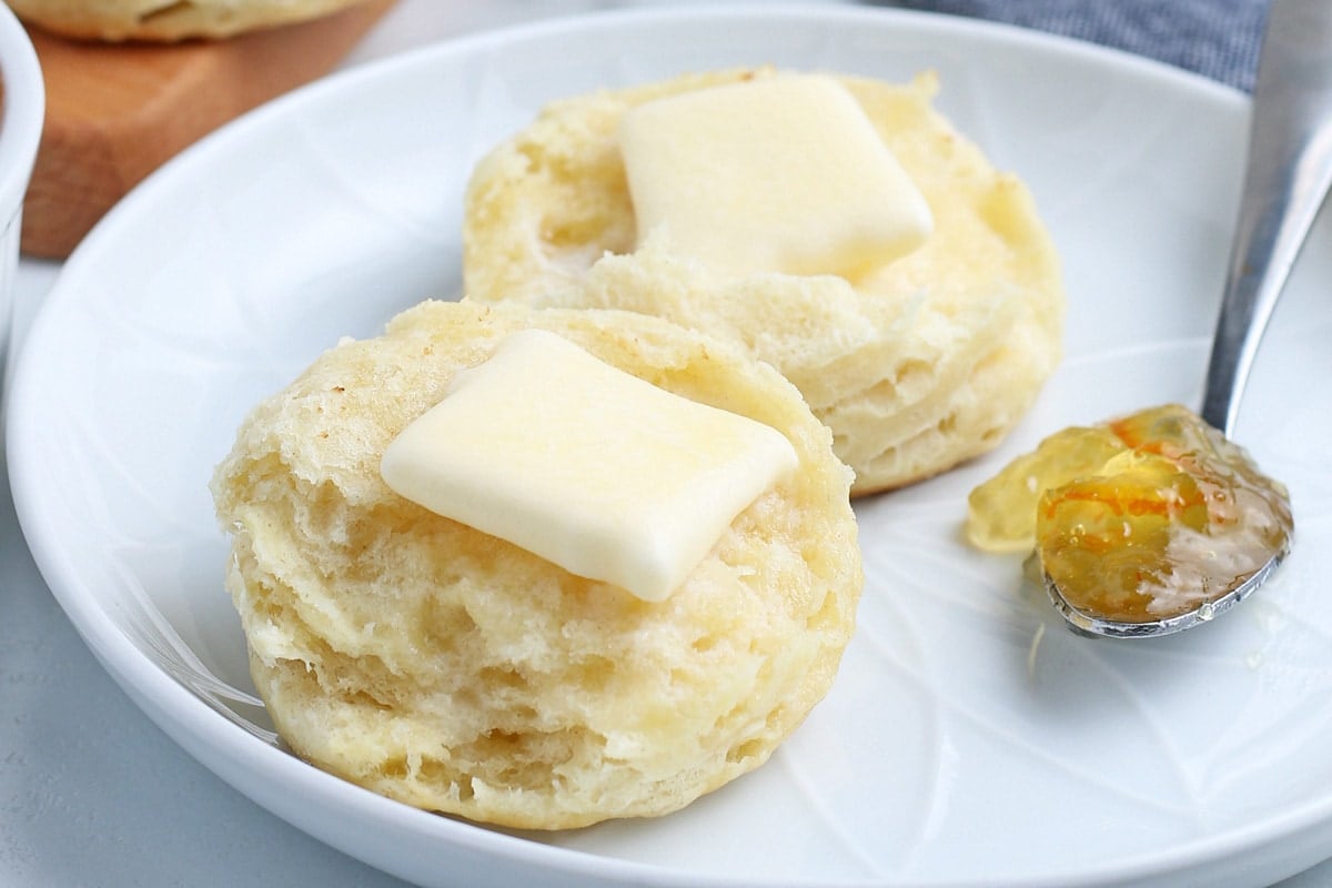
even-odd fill
[[[389,441],[529,326],[797,450],[665,602],[380,478]],[[212,490],[254,684],[293,751],[412,805],[553,829],[675,811],[823,698],[862,584],[848,485],[794,386],[735,346],[623,312],[425,302],[256,407]]]

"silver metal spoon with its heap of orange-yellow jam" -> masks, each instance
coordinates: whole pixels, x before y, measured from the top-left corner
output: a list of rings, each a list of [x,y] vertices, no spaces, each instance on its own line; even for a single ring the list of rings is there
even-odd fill
[[[968,538],[1035,546],[1056,608],[1090,635],[1212,619],[1291,546],[1285,489],[1231,443],[1240,393],[1332,185],[1332,3],[1273,0],[1203,410],[1169,405],[1047,438],[978,487]]]

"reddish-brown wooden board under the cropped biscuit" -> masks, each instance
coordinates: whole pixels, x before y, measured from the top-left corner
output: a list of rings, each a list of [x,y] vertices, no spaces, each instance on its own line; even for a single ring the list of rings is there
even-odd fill
[[[393,0],[230,40],[81,43],[29,31],[47,121],[23,252],[64,258],[131,188],[238,114],[332,71]]]

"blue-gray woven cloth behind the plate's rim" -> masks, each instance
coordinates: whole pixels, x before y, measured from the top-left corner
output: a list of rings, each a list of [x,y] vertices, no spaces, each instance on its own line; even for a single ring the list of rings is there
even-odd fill
[[[1268,0],[899,0],[1090,40],[1251,91]]]

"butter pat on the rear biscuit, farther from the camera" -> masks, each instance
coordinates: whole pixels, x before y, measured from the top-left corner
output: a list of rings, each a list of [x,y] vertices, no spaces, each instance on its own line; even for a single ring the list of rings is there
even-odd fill
[[[916,249],[930,205],[832,77],[778,75],[645,103],[621,125],[639,245],[739,274],[855,278]]]

